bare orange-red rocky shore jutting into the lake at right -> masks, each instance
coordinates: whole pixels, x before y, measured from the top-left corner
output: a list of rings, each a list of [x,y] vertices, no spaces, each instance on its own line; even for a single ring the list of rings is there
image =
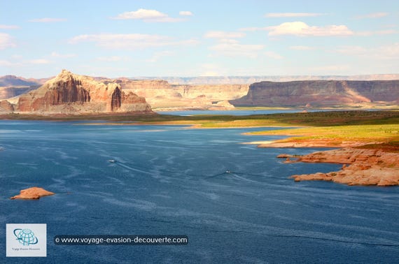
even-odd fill
[[[263,145],[262,147],[265,146]],[[295,179],[295,182],[323,180],[348,185],[399,185],[399,153],[386,151],[383,148],[344,147],[342,149],[315,152],[304,156],[281,154],[278,157],[286,158],[286,163],[343,164],[342,169],[337,172],[293,175],[291,177]]]

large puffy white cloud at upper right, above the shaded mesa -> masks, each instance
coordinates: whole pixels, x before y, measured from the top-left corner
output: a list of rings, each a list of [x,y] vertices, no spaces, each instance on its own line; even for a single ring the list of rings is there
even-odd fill
[[[285,22],[278,26],[266,27],[269,36],[350,36],[353,35],[345,25],[328,25],[325,27],[309,26],[304,22]]]

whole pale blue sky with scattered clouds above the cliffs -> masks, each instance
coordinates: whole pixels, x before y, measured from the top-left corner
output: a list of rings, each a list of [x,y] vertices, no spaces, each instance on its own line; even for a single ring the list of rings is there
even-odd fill
[[[399,1],[0,1],[0,75],[399,73]]]

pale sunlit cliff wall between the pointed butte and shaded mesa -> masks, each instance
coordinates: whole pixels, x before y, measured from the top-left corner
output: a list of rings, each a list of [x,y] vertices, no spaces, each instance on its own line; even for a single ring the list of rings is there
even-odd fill
[[[241,98],[249,89],[249,85],[170,85],[165,80],[113,82],[120,84],[124,91],[144,96],[155,108],[224,108],[218,102]]]

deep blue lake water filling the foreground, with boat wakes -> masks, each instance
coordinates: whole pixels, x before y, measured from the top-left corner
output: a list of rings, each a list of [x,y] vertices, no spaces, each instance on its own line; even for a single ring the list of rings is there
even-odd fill
[[[318,149],[239,144],[281,138],[241,135],[258,130],[0,121],[0,263],[398,263],[398,187],[293,182],[339,166],[276,159]],[[9,199],[31,186],[57,194]],[[47,258],[6,258],[6,223],[47,223]],[[52,242],[69,234],[189,244]]]

